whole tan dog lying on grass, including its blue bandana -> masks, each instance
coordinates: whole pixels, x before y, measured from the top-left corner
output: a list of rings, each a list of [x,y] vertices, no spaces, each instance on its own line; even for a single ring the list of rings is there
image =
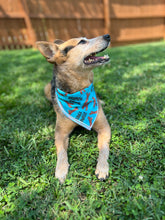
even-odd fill
[[[45,86],[44,92],[47,99],[52,102],[57,116],[55,177],[60,183],[65,181],[68,174],[69,135],[77,125],[88,130],[92,128],[98,133],[99,157],[95,174],[101,181],[109,176],[107,160],[111,129],[104,115],[101,101],[94,91],[92,71],[95,67],[109,62],[108,55],[96,56],[109,44],[109,34],[92,39],[73,38],[65,42],[62,40],[36,42],[40,53],[49,63],[54,64],[53,79]]]

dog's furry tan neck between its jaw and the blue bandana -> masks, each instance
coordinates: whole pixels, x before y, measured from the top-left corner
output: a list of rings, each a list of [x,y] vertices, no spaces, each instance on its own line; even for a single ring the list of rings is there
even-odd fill
[[[93,72],[75,72],[70,69],[63,69],[54,65],[53,76],[55,88],[67,93],[75,93],[87,88],[93,82]]]

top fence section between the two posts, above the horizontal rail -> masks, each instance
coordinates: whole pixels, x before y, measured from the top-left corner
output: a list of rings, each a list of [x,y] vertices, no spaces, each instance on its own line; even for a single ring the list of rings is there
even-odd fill
[[[28,0],[30,16],[53,18],[103,18],[102,0]]]

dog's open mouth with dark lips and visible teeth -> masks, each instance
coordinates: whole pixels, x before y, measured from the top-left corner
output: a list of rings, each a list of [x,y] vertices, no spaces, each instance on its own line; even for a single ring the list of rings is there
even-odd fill
[[[85,57],[84,64],[86,64],[86,65],[104,64],[104,63],[108,62],[110,60],[108,55],[96,56],[97,53],[100,53],[102,51],[92,53],[92,54],[88,55],[87,57]]]

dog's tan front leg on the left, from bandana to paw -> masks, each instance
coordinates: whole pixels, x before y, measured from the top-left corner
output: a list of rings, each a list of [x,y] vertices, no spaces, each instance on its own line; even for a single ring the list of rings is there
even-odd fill
[[[67,156],[69,134],[75,127],[75,123],[65,118],[65,116],[57,115],[56,129],[55,129],[55,145],[57,148],[57,165],[55,176],[60,183],[65,181],[68,173],[69,163]]]

